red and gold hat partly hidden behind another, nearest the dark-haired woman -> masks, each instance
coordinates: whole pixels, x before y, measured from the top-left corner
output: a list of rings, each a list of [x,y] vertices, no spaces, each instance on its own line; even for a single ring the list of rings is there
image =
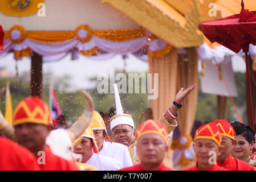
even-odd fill
[[[229,137],[231,139],[235,138],[235,130],[230,125],[230,123],[224,119],[217,119],[214,121],[222,136]]]

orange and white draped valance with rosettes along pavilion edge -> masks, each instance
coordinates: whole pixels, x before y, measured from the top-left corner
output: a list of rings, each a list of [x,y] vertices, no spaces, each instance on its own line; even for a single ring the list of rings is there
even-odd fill
[[[93,36],[99,38],[96,40],[96,44],[94,41],[90,42]],[[102,46],[104,47],[106,43],[105,40],[110,41],[105,51],[114,53],[123,51],[123,53],[125,53],[126,51],[132,50],[132,45],[135,46],[136,49],[139,47],[143,48],[144,46],[150,45],[151,41],[155,39],[158,38],[150,32],[145,31],[144,28],[128,30],[92,30],[87,24],[78,26],[74,31],[26,31],[22,26],[15,25],[11,27],[9,31],[5,32],[5,40],[7,42],[19,45],[17,47],[15,44],[9,43],[8,45],[12,48],[7,48],[14,51],[16,59],[29,56],[32,51],[45,56],[58,55],[59,53],[67,52],[73,48],[78,49],[78,52],[84,56],[99,55],[100,52],[102,52]],[[136,41],[132,44],[131,42],[125,44],[132,40]],[[66,46],[65,51],[62,51],[64,44],[70,45],[70,48]],[[162,45],[161,48],[156,48],[157,51],[148,49],[148,54],[155,58],[166,55],[172,50],[172,46],[167,43],[165,44],[166,46],[164,47],[162,47]],[[78,45],[80,45],[79,48],[77,47]],[[154,45],[154,43],[152,45]],[[116,47],[119,46],[121,48],[116,49]],[[50,53],[49,50],[51,50]]]

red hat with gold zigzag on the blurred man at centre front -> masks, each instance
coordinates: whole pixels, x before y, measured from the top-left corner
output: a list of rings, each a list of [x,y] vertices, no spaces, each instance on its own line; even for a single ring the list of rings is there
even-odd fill
[[[166,127],[158,121],[149,119],[143,122],[136,131],[136,140],[148,133],[159,134],[167,142],[168,132]]]

